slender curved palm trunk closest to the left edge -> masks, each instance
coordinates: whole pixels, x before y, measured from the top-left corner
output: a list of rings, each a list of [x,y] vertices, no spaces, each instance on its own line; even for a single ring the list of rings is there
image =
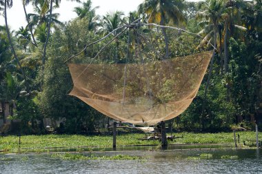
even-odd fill
[[[1,4],[3,3],[3,0],[1,0]],[[9,31],[9,28],[8,28],[8,19],[7,19],[7,8],[11,8],[12,7],[12,0],[4,0],[4,14],[5,14],[5,23],[6,23],[6,33],[8,35],[8,41],[10,43],[10,47],[11,47],[11,51],[12,51],[12,54],[14,55],[14,59],[16,59],[17,61],[17,64],[19,66],[19,69],[21,70],[22,72],[22,75],[23,75],[23,79],[25,79],[26,81],[26,74],[25,72],[23,71],[23,68],[20,64],[20,61],[17,57],[17,54],[14,50],[14,45],[12,44],[12,39],[11,39],[11,36],[10,36],[10,31]]]

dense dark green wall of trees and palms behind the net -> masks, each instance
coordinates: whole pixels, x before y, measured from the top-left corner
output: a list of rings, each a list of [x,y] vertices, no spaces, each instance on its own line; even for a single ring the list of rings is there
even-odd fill
[[[4,1],[0,2],[0,9],[4,10]],[[206,73],[193,103],[181,116],[169,121],[174,128],[217,132],[238,126],[252,129],[255,122],[261,124],[260,0],[206,0],[198,3],[145,0],[138,12],[132,12],[128,17],[119,11],[100,17],[95,12],[98,7],[93,8],[88,0],[74,9],[78,17],[67,23],[57,19],[59,14],[50,13],[50,6],[58,8],[59,4],[52,5],[50,0],[26,1],[24,5],[27,3],[32,3],[35,9],[34,14],[26,14],[28,26],[11,32],[10,39],[6,27],[0,26],[0,101],[2,108],[10,108],[8,119],[11,119],[14,132],[44,133],[43,118],[50,118],[59,133],[91,133],[96,128],[105,127],[108,122],[105,116],[68,95],[72,79],[65,61],[88,43],[139,16],[145,22],[177,26],[202,36],[199,40],[195,35],[177,30],[150,32],[150,28],[138,28],[140,33],[150,33],[150,38],[145,40],[150,39],[152,45],[145,46],[143,51],[153,59],[159,59],[159,55],[171,58],[212,50],[210,43],[216,46],[214,61],[210,63],[212,69]],[[7,5],[6,8],[11,8],[12,1],[9,0]],[[159,8],[154,10],[156,7]],[[112,36],[88,47],[71,62],[90,62],[119,32],[113,32]],[[134,52],[132,45],[136,39],[131,37],[130,40],[130,52]],[[127,42],[128,32],[124,32],[94,62],[123,63]],[[163,90],[168,93],[165,86]],[[0,117],[6,122],[2,113]],[[19,126],[14,124],[17,119],[21,121]],[[62,120],[58,128],[56,120]]]

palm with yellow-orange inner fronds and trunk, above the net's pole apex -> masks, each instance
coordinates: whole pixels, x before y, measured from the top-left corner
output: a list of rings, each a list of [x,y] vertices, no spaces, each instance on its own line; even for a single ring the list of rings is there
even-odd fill
[[[183,8],[183,0],[144,0],[139,5],[138,11],[140,14],[148,15],[148,22],[160,23],[161,26],[164,26],[168,19],[176,25],[185,22],[185,17],[181,11]],[[168,58],[168,36],[165,28],[162,28],[162,33],[165,39],[165,58]]]

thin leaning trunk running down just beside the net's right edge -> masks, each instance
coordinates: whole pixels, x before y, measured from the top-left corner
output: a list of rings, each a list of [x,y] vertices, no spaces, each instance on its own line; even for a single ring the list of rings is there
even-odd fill
[[[216,48],[216,30],[214,31],[214,48]],[[208,71],[208,81],[207,81],[207,84],[205,85],[205,93],[204,93],[204,97],[203,97],[201,117],[203,117],[203,113],[204,113],[204,110],[205,110],[205,98],[206,98],[207,93],[208,93],[208,86],[210,84],[210,79],[211,79],[211,75],[212,75],[213,64],[214,64],[214,54],[215,53],[216,53],[216,49],[213,50],[213,54],[212,54],[212,58],[211,58],[211,62],[210,62],[210,69]]]

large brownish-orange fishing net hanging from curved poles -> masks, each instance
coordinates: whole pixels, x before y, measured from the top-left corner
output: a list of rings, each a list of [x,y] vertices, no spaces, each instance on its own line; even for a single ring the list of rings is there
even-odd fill
[[[190,106],[212,52],[137,64],[69,64],[78,97],[121,122],[154,125]]]

